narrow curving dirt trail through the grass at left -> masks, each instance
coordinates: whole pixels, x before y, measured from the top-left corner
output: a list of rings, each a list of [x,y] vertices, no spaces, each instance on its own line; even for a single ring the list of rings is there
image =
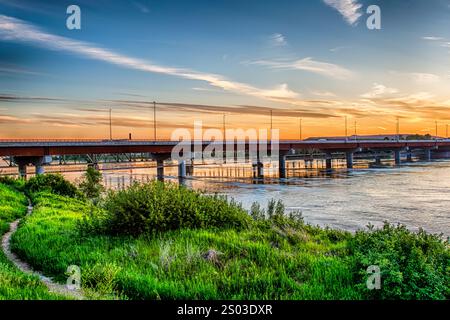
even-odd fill
[[[33,207],[31,204],[28,206],[27,216],[33,212]],[[54,282],[51,278],[44,276],[42,273],[34,271],[31,266],[20,260],[19,257],[11,252],[11,237],[16,232],[19,225],[20,219],[11,222],[9,225],[9,231],[5,233],[2,237],[2,250],[5,256],[10,260],[20,271],[23,273],[38,276],[42,283],[48,288],[52,293],[63,295],[69,299],[74,300],[84,300],[84,295],[80,291],[69,290],[66,285]]]

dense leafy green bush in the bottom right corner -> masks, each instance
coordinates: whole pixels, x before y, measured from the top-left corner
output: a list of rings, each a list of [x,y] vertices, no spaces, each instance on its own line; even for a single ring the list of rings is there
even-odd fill
[[[420,230],[386,223],[382,229],[359,231],[349,244],[356,259],[360,289],[373,299],[448,299],[450,252],[448,240]],[[381,271],[381,290],[366,289],[366,268]]]

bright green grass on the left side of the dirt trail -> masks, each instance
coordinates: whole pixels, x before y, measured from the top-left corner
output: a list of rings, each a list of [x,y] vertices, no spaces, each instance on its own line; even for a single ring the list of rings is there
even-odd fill
[[[9,222],[25,215],[26,197],[0,184],[0,235],[9,230]],[[14,267],[0,251],[0,300],[57,299],[37,277],[28,276]]]

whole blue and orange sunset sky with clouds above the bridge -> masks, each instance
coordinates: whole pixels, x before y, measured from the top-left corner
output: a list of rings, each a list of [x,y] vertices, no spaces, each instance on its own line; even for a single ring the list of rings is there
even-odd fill
[[[449,58],[450,0],[0,0],[0,139],[445,136]]]

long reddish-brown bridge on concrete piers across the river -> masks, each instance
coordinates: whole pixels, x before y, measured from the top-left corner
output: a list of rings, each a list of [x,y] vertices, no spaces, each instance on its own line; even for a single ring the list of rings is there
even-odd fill
[[[149,153],[157,163],[157,176],[164,176],[164,161],[171,158],[173,148],[178,141],[168,140],[0,140],[0,157],[9,157],[18,166],[19,175],[26,177],[27,166],[34,165],[36,174],[44,173],[44,165],[51,162],[52,156],[62,155],[100,155],[100,154],[133,154]],[[188,145],[191,152],[203,151],[211,144],[219,142],[197,142]],[[266,142],[270,150],[271,142]],[[222,142],[220,142],[222,144]],[[264,146],[264,143],[262,144]],[[264,175],[259,158],[261,142],[258,141],[225,141],[223,149],[236,154],[239,150],[249,153],[257,150],[258,158],[254,163],[255,176]],[[411,159],[414,150],[420,150],[426,161],[430,161],[433,152],[450,151],[450,139],[435,140],[280,140],[278,141],[279,177],[286,177],[286,159],[305,150],[319,150],[324,154],[327,169],[331,169],[332,155],[345,154],[348,168],[353,168],[355,153],[390,152],[395,163],[401,163],[401,153]],[[270,153],[270,152],[269,152]],[[379,159],[376,159],[377,161]],[[186,175],[186,163],[180,161],[178,175]]]

